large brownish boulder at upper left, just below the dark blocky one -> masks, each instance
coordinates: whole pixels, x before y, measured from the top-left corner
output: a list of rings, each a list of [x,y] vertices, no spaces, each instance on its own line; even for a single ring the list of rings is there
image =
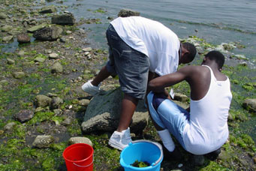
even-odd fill
[[[35,31],[33,37],[35,37],[37,40],[57,40],[62,34],[62,31],[62,28],[56,26],[49,26]]]

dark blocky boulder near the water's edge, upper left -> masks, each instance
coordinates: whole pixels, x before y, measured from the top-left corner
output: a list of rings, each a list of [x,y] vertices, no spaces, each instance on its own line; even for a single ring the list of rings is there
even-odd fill
[[[61,15],[55,15],[52,17],[53,24],[59,25],[74,25],[76,23],[74,15],[72,13],[64,13]]]

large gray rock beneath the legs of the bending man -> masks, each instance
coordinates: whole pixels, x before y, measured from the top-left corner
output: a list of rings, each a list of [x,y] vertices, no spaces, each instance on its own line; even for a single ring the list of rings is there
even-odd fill
[[[122,96],[120,88],[95,95],[87,107],[82,123],[83,131],[89,133],[97,130],[111,132],[116,130],[119,123]],[[148,119],[149,114],[143,106],[143,101],[140,101],[132,117],[131,132],[141,133],[146,127]]]

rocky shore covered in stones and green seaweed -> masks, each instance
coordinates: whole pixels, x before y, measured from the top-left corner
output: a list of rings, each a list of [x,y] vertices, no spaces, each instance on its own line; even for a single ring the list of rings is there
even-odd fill
[[[80,28],[99,19],[76,20],[63,1],[56,0],[55,6],[47,5],[48,1],[0,4],[0,169],[66,170],[62,152],[68,145],[84,142],[95,150],[95,170],[122,170],[120,151],[107,145],[118,122],[122,98],[118,80],[107,78],[95,98],[80,88],[107,62],[107,49],[92,46],[88,33]],[[118,15],[140,13],[122,10]],[[245,56],[232,53],[245,46],[236,42],[216,46],[194,36],[182,41],[197,46],[194,64],[212,49],[224,52],[230,63],[224,66],[233,88],[230,137],[215,160],[188,154],[176,143],[183,160],[164,158],[161,170],[255,170],[255,139],[240,126],[255,121],[255,68]],[[177,103],[188,106],[188,85],[179,83],[173,89]],[[255,130],[255,124],[248,124],[248,129]],[[131,132],[134,140],[161,142],[143,101]]]

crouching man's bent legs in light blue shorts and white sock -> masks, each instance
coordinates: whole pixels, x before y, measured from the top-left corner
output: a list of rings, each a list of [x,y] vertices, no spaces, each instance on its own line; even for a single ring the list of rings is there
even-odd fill
[[[158,130],[158,134],[164,144],[164,147],[170,151],[170,157],[180,157],[170,133],[176,137],[179,143],[185,148],[182,140],[182,131],[188,122],[189,113],[182,107],[174,104],[162,94],[149,93],[147,96],[149,115],[153,124]],[[180,158],[179,158],[180,159]]]

